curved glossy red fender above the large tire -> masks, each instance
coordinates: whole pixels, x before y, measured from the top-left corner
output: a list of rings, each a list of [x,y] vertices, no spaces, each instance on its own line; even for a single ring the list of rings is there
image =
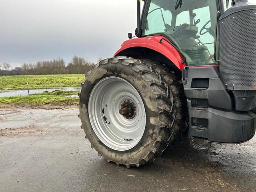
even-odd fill
[[[182,70],[182,68],[186,66],[186,63],[182,64],[183,59],[180,56],[180,53],[166,41],[159,43],[162,38],[165,37],[161,35],[154,35],[126,40],[122,43],[121,48],[114,54],[114,56],[127,48],[145,47],[163,54],[169,60],[171,60],[178,69]],[[165,39],[168,40],[167,38]]]

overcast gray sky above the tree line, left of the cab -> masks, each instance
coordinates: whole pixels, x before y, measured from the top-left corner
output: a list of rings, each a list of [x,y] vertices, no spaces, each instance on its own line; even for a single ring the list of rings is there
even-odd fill
[[[0,0],[0,64],[113,56],[136,28],[135,0]]]

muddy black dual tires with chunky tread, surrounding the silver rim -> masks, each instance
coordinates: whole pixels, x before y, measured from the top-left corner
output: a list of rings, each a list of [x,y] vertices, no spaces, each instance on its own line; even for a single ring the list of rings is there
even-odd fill
[[[140,142],[132,149],[116,151],[105,146],[96,136],[88,116],[88,100],[94,85],[107,76],[128,80],[140,93],[146,110],[146,128]],[[158,157],[184,130],[182,86],[172,73],[159,64],[127,57],[102,60],[86,73],[79,94],[79,117],[86,139],[99,156],[130,166],[140,166]]]

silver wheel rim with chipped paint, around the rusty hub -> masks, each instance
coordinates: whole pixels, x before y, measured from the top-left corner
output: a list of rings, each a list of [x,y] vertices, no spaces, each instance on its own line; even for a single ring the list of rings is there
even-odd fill
[[[137,113],[127,119],[119,113],[125,100],[132,101]],[[138,91],[128,81],[111,76],[92,89],[88,104],[92,129],[102,143],[113,150],[126,151],[140,142],[146,127],[146,111]]]

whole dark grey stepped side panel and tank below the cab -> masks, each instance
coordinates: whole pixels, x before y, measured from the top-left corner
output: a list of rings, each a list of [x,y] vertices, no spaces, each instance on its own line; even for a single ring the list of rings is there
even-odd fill
[[[218,67],[185,67],[182,81],[188,104],[190,138],[240,143],[254,136],[256,114],[234,109],[234,96],[226,91]]]

